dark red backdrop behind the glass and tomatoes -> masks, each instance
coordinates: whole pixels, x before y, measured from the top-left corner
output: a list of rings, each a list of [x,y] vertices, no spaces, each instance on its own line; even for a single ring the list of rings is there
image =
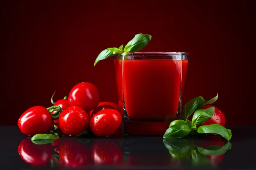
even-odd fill
[[[100,51],[151,34],[143,51],[189,52],[185,102],[219,94],[227,125],[255,125],[254,1],[7,1],[1,6],[0,125],[92,82],[117,102],[113,60]]]

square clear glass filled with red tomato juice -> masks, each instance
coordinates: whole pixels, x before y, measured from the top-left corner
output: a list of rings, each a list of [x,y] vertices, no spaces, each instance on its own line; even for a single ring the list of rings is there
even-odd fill
[[[180,52],[136,52],[114,57],[125,134],[165,133],[180,115],[187,63],[188,54]]]

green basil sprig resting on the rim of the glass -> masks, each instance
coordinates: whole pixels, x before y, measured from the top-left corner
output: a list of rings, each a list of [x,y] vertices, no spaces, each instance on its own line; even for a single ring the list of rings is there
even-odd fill
[[[137,34],[135,37],[125,45],[125,48],[123,45],[121,45],[119,48],[113,47],[113,48],[107,48],[103,50],[98,57],[96,58],[94,62],[94,66],[102,59],[107,59],[109,57],[112,57],[113,55],[120,54],[120,53],[134,53],[136,51],[141,50],[151,40],[151,35],[148,34]]]

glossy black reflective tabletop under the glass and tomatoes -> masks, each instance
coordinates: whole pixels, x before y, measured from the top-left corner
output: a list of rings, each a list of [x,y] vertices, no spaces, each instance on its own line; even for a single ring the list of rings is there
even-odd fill
[[[256,169],[256,126],[228,127],[230,142],[220,136],[64,137],[33,143],[17,126],[0,127],[1,169]]]

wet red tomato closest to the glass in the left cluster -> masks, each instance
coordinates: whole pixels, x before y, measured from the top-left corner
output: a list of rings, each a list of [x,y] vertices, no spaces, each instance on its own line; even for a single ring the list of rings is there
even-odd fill
[[[110,136],[116,132],[122,122],[122,116],[114,109],[104,109],[90,120],[90,128],[96,136]]]

